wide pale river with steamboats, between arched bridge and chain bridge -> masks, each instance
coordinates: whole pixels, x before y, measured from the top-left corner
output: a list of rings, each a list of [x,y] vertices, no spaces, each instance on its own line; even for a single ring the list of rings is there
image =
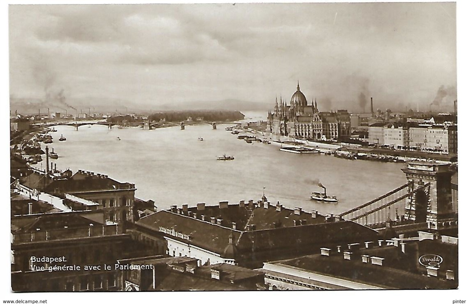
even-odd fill
[[[59,154],[57,168],[102,173],[136,185],[136,197],[170,205],[220,200],[260,199],[320,213],[340,213],[406,183],[402,163],[345,160],[329,155],[281,152],[273,144],[247,144],[225,131],[229,125],[144,130],[94,125],[56,126],[49,149]],[[63,134],[66,141],[58,139]],[[241,133],[242,134],[242,133]],[[121,139],[119,140],[118,137]],[[203,137],[203,141],[198,140]],[[44,147],[44,146],[43,146]],[[234,160],[217,161],[224,153]],[[45,159],[45,157],[44,157]],[[38,167],[45,166],[45,161]],[[310,201],[312,191],[335,195],[338,204]]]

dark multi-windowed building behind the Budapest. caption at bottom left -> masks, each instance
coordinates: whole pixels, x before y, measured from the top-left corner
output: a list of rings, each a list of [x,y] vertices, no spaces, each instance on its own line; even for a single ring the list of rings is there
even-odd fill
[[[89,211],[12,216],[11,288],[118,290],[117,260],[148,256],[151,248],[132,240],[123,225],[93,217]]]

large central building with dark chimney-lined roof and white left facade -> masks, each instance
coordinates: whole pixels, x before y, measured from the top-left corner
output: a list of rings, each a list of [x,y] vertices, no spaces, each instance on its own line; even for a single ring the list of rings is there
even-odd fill
[[[173,206],[145,216],[132,232],[154,244],[159,253],[197,258],[202,264],[226,263],[257,268],[266,260],[289,258],[318,250],[327,242],[356,242],[377,232],[355,222],[327,217],[302,208],[284,208],[265,199],[257,203],[197,207]]]

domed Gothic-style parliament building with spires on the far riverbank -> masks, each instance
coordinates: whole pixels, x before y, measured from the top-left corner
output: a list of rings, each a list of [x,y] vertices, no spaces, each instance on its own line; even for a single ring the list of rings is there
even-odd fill
[[[280,98],[275,99],[275,108],[269,111],[267,133],[274,136],[287,136],[300,139],[338,139],[350,137],[350,114],[347,110],[319,112],[318,103],[311,101],[296,87],[290,104]]]

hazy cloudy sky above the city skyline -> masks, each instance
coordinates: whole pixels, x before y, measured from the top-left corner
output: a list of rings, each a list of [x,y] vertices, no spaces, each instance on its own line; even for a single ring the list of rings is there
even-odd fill
[[[13,5],[9,51],[17,98],[273,104],[299,81],[323,107],[426,110],[455,99],[456,5]]]

